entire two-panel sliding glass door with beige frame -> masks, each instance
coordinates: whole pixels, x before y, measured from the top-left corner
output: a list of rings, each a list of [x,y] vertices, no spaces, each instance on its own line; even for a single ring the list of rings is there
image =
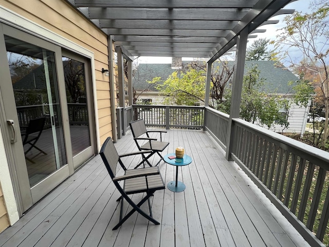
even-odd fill
[[[0,126],[19,213],[96,153],[90,60],[0,23]]]

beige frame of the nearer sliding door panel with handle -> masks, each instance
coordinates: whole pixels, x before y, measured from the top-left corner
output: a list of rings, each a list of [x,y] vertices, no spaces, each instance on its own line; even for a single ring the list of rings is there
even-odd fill
[[[2,26],[1,28],[1,52],[2,55],[6,54],[6,46],[4,41],[4,35],[13,37],[17,40],[24,40],[27,43],[30,44],[37,44],[39,47],[45,48],[47,50],[51,50],[54,52],[55,60],[56,60],[56,68],[57,72],[60,72],[63,70],[63,66],[61,67],[61,47],[51,44],[47,41],[44,41],[38,37],[31,36],[30,34],[23,32],[21,30],[12,28],[6,24],[0,24]],[[3,56],[2,56],[3,57]],[[4,58],[3,58],[4,59]],[[5,56],[5,59],[7,59],[7,55]],[[60,63],[58,62],[60,61]],[[16,116],[16,105],[15,105],[15,98],[13,96],[13,89],[9,72],[9,65],[8,61],[7,63],[3,63],[3,67],[1,70],[3,70],[2,75],[4,75],[4,80],[1,85],[1,91],[2,91],[2,108],[4,109],[3,116],[2,116],[2,123],[3,126],[6,126],[6,120],[8,119],[8,115],[6,115],[6,111],[8,113],[8,105],[12,104],[12,108],[10,109],[12,111],[11,117],[15,122],[15,132],[20,133],[20,125],[18,122],[18,117]],[[60,97],[60,103],[61,105],[66,104],[66,93],[65,93],[65,85],[63,88],[63,85],[60,83],[60,75],[57,73],[57,82],[58,83],[58,94]],[[6,95],[3,94],[3,92],[6,92]],[[64,97],[65,95],[65,97]],[[5,100],[7,102],[5,102]],[[7,107],[6,107],[7,105]],[[69,130],[66,127],[65,128],[65,122],[67,122],[67,108],[61,107],[61,117],[63,124],[63,134],[64,134],[64,144],[66,147],[69,147],[70,143],[67,142],[67,136],[69,136]],[[4,119],[5,117],[5,119]],[[7,126],[6,126],[7,127]],[[69,148],[66,150],[66,161],[67,164],[62,166],[57,171],[54,171],[51,173],[46,179],[42,180],[38,184],[30,187],[29,185],[29,177],[27,173],[27,167],[25,162],[24,150],[23,150],[23,144],[22,144],[22,137],[21,135],[16,134],[17,142],[15,144],[12,144],[10,140],[8,139],[9,136],[9,130],[10,128],[4,128],[2,129],[3,132],[6,133],[7,138],[5,139],[5,147],[7,156],[9,156],[9,166],[12,166],[11,173],[14,172],[16,176],[12,177],[12,180],[14,181],[14,188],[15,190],[15,196],[17,198],[20,198],[17,200],[19,212],[22,214],[24,211],[26,211],[28,208],[30,208],[33,204],[35,204],[37,201],[39,201],[42,197],[44,197],[48,192],[50,192],[54,187],[59,185],[61,182],[63,182],[66,178],[69,177],[70,174],[74,172],[73,169],[73,162],[71,158],[71,154],[69,152]],[[8,142],[9,140],[9,142]],[[22,157],[23,156],[23,157]],[[17,190],[18,189],[18,190]]]

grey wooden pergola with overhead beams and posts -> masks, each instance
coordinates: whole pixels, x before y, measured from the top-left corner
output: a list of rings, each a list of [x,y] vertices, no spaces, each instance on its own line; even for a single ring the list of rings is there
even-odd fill
[[[205,102],[208,106],[212,63],[228,51],[236,51],[230,118],[239,117],[248,38],[266,31],[259,29],[260,26],[278,23],[269,20],[270,17],[294,12],[283,9],[294,0],[67,1],[108,35],[110,48],[112,41],[115,42],[119,107],[124,108],[123,57],[129,65],[130,105],[133,102],[132,61],[135,56],[206,58]],[[113,55],[110,50],[109,54],[111,63]],[[112,98],[114,100],[114,93]]]

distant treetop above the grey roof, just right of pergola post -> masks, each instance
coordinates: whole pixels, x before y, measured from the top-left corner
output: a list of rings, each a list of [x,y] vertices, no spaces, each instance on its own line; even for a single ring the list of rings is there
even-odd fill
[[[246,60],[275,60],[275,52],[268,50],[269,41],[270,40],[267,39],[259,39],[252,42],[252,44],[247,48]]]

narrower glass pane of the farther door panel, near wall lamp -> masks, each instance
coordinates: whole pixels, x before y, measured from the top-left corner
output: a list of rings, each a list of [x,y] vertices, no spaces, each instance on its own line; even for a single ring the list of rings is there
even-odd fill
[[[63,57],[65,89],[69,116],[72,154],[90,147],[85,64]]]

